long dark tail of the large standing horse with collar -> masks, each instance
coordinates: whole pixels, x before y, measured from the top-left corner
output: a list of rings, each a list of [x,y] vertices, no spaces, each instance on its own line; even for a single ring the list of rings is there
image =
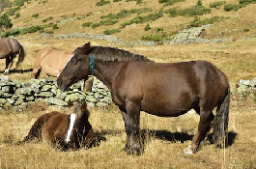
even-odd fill
[[[218,104],[213,121],[213,142],[217,147],[225,147],[229,121],[230,87],[228,87],[224,99]]]

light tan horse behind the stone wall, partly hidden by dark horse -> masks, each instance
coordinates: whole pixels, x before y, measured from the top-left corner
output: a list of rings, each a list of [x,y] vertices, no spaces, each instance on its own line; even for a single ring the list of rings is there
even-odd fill
[[[71,59],[72,51],[59,50],[55,47],[44,47],[39,51],[34,62],[31,78],[39,78],[41,70],[48,76],[57,77],[61,70]],[[93,85],[93,77],[84,82],[84,92],[90,92]]]

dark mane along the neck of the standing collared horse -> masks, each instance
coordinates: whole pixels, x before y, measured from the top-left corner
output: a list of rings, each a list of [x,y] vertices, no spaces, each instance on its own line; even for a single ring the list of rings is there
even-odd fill
[[[137,61],[150,61],[145,56],[113,47],[92,46],[90,53],[92,53],[96,59],[100,59],[104,62],[126,62],[129,59]]]

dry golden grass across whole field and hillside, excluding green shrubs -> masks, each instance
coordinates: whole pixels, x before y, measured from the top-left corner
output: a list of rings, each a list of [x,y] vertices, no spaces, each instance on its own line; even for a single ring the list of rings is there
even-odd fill
[[[122,9],[134,9],[150,7],[154,11],[159,10],[162,5],[144,0],[145,3],[136,5],[135,2],[113,3],[102,7],[95,6],[96,1],[68,0],[48,1],[39,4],[33,1],[27,4],[20,11],[20,17],[13,19],[14,27],[32,26],[43,24],[43,18],[54,17],[49,21],[55,21],[73,16],[83,16],[96,13],[94,15],[79,19],[75,22],[59,24],[60,29],[54,30],[54,34],[71,34],[74,32],[88,34],[102,34],[105,29],[119,28],[119,25],[135,16],[135,14],[120,20],[114,26],[102,26],[96,29],[82,28],[81,24],[87,21],[98,22],[100,15],[109,13],[116,14]],[[189,8],[196,4],[196,0],[186,0],[176,6]],[[203,5],[214,2],[203,1]],[[237,3],[235,0],[227,3]],[[164,7],[168,9],[171,7]],[[93,45],[111,45],[124,48],[134,53],[142,54],[156,62],[182,62],[189,60],[203,59],[212,62],[220,70],[223,70],[229,77],[232,89],[241,79],[251,79],[256,76],[256,40],[245,41],[242,37],[252,37],[256,34],[255,14],[256,5],[249,5],[238,12],[224,12],[223,10],[212,10],[211,14],[205,16],[229,16],[213,25],[207,30],[207,38],[236,38],[236,42],[223,42],[217,44],[170,44],[158,46],[120,46],[116,43],[105,41],[94,41],[85,39],[56,40],[52,37],[40,38],[40,34],[30,34],[19,36],[18,39],[26,48],[27,56],[21,64],[21,70],[33,68],[34,58],[43,46],[55,46],[62,49],[74,49],[84,42],[92,42]],[[39,14],[39,19],[34,19],[33,14]],[[187,25],[192,17],[161,17],[150,22],[153,28],[151,32],[145,32],[146,24],[137,24],[129,28],[122,29],[121,33],[115,34],[126,41],[138,41],[142,35],[155,34],[154,28],[163,27],[168,33],[177,31]],[[47,23],[49,23],[47,22]],[[238,31],[249,29],[249,32]],[[221,33],[223,32],[223,33]],[[4,60],[0,60],[0,70],[3,71]],[[2,73],[0,75],[3,75]],[[11,79],[26,81],[30,77],[30,72],[11,73]],[[186,136],[191,136],[196,132],[198,116],[187,115],[178,118],[158,118],[142,113],[141,127],[145,132],[145,154],[141,156],[128,156],[120,152],[125,146],[126,133],[124,122],[117,108],[92,109],[90,121],[93,128],[106,138],[99,147],[90,150],[77,152],[60,153],[41,144],[27,144],[24,146],[14,146],[13,143],[20,140],[35,122],[39,114],[49,110],[43,105],[33,106],[23,113],[10,111],[10,114],[0,114],[0,168],[253,168],[255,164],[255,101],[240,102],[232,97],[230,108],[231,131],[238,135],[234,144],[225,151],[207,145],[195,155],[183,155],[182,150],[190,143]],[[150,129],[150,130],[148,130]],[[172,135],[172,133],[185,133],[182,136]],[[160,138],[158,138],[160,137]]]

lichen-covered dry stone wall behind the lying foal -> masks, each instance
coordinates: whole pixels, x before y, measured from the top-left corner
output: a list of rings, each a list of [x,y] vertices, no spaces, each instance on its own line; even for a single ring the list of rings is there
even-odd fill
[[[0,76],[0,107],[21,109],[31,101],[45,101],[49,105],[67,106],[68,100],[87,101],[88,106],[106,106],[112,102],[108,88],[94,77],[92,92],[83,91],[83,81],[73,84],[69,91],[58,89],[51,78],[31,79],[25,83]]]

